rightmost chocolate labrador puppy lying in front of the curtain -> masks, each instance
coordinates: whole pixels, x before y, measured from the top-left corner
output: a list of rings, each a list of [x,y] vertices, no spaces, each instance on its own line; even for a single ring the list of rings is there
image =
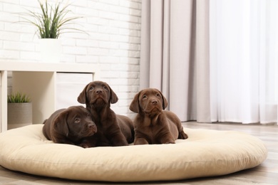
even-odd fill
[[[187,139],[180,119],[173,112],[164,110],[168,102],[155,88],[137,93],[130,110],[138,113],[134,120],[134,144],[169,144],[175,139]]]

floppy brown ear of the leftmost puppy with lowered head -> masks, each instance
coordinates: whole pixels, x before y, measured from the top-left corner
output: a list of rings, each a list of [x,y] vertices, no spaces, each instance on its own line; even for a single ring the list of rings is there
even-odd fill
[[[66,122],[68,118],[68,111],[65,110],[63,112],[61,112],[58,117],[56,117],[56,119],[53,122],[53,133],[56,134],[56,136],[58,135],[63,135],[68,137],[68,124]]]

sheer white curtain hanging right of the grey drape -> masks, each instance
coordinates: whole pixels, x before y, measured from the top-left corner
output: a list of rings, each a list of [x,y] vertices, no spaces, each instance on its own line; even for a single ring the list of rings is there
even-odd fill
[[[210,0],[212,122],[277,122],[277,10],[277,0]]]

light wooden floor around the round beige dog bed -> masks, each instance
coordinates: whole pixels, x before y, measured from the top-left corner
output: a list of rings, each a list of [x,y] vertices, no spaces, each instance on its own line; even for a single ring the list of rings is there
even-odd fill
[[[241,124],[205,124],[196,122],[185,122],[184,127],[192,129],[217,129],[238,130],[247,132],[262,139],[268,148],[267,159],[253,169],[239,171],[235,174],[215,176],[211,178],[198,178],[183,181],[156,181],[136,184],[278,184],[278,126],[277,125],[241,125]],[[95,181],[70,181],[64,179],[53,179],[43,176],[33,176],[16,171],[10,171],[0,166],[0,184],[113,184]],[[128,183],[114,183],[128,184]],[[135,184],[135,183],[133,183]]]

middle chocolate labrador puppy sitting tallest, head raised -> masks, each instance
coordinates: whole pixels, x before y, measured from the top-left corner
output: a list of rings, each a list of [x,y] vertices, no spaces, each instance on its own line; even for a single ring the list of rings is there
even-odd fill
[[[86,103],[98,132],[91,137],[97,146],[127,146],[133,142],[134,127],[130,118],[115,115],[110,104],[118,101],[110,86],[102,81],[88,83],[78,96],[78,102]]]

